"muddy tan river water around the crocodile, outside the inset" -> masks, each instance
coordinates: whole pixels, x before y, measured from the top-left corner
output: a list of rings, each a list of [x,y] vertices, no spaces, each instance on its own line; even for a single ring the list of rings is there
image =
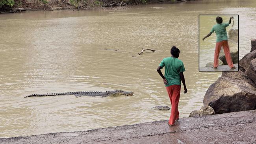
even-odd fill
[[[203,0],[106,11],[31,11],[0,15],[0,137],[69,132],[166,120],[160,61],[181,50],[188,93],[180,117],[202,106],[221,72],[198,72],[198,15],[239,14],[239,56],[256,38],[254,0]],[[118,51],[104,50],[119,49]],[[138,55],[142,48],[156,52]],[[30,94],[122,89],[114,98]],[[182,86],[183,91],[183,86]]]

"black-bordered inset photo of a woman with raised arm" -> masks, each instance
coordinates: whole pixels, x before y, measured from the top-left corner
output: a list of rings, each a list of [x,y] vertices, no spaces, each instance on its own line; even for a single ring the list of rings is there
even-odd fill
[[[199,15],[199,71],[238,71],[239,15]]]

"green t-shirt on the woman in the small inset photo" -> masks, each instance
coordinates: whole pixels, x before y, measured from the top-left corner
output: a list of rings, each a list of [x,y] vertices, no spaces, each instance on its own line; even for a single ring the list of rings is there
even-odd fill
[[[216,42],[228,40],[228,35],[227,35],[227,31],[226,31],[227,26],[229,26],[228,22],[224,22],[221,24],[215,24],[211,28],[211,32],[213,33],[215,31],[215,33],[216,33],[216,38],[217,38]]]

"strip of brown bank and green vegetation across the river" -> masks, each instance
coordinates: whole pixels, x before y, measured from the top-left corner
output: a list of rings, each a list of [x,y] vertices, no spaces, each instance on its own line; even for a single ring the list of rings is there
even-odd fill
[[[118,8],[130,5],[176,3],[176,0],[0,0],[0,12],[22,12],[55,9]]]

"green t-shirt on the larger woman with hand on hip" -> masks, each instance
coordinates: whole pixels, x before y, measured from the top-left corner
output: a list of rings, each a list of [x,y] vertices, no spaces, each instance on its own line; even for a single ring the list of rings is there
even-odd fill
[[[180,72],[184,72],[185,68],[183,62],[175,57],[166,57],[159,64],[163,68],[165,67],[165,78],[167,80],[168,87],[170,85],[181,85]]]

